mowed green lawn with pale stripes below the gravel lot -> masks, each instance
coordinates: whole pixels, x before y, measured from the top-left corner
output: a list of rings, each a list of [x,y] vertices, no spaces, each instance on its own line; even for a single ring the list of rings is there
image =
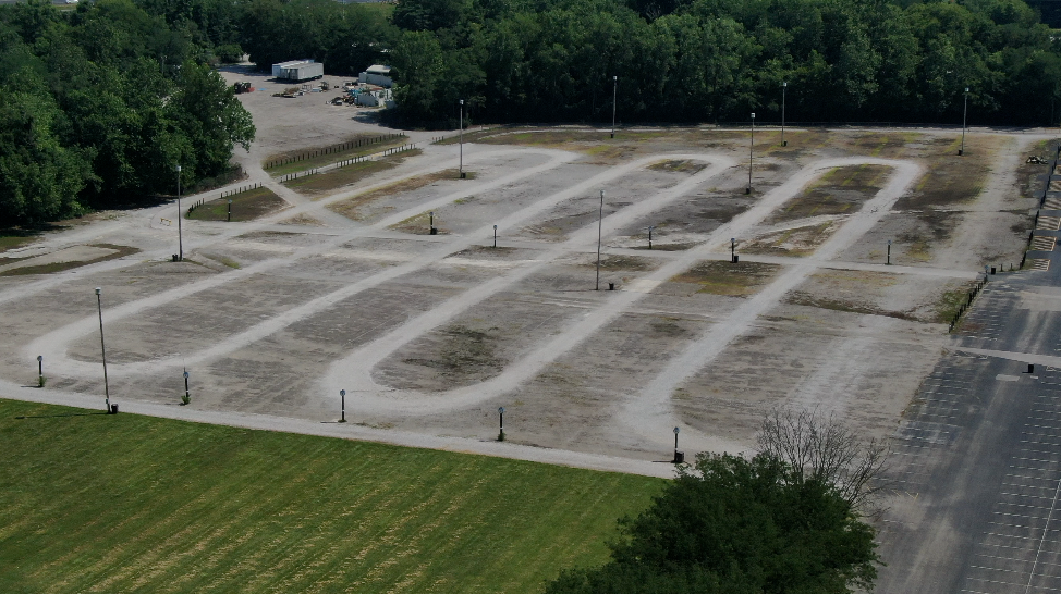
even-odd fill
[[[662,485],[0,400],[0,592],[539,592]]]

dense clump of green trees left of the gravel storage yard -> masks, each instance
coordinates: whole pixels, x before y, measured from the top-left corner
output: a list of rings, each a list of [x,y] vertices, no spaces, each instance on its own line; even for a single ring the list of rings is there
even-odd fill
[[[0,226],[172,193],[227,170],[251,115],[202,48],[129,0],[0,7]]]

